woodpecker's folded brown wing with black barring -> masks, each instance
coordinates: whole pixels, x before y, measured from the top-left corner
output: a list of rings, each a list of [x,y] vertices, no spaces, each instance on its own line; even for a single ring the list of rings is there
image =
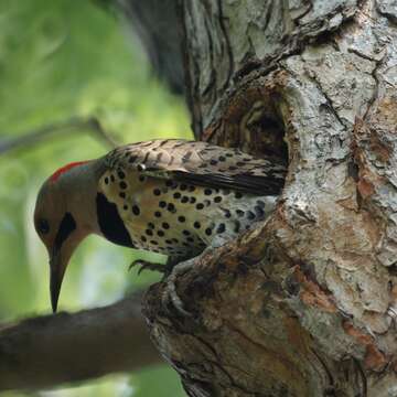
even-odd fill
[[[105,157],[109,169],[256,195],[280,193],[286,168],[238,149],[178,139],[152,140],[117,148]]]

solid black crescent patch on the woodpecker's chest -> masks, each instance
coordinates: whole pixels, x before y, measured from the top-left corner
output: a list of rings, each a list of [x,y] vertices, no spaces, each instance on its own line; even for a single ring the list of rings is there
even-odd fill
[[[111,243],[133,247],[131,237],[117,211],[115,203],[109,203],[104,194],[96,196],[97,218],[100,232]]]

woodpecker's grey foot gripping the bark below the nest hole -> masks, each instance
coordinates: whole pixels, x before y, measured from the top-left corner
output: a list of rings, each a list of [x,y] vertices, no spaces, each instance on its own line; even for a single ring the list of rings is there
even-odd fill
[[[194,259],[195,258],[192,258],[173,266],[165,279],[165,288],[162,296],[162,302],[165,307],[170,303],[180,314],[190,318],[192,316],[192,313],[184,309],[183,301],[176,292],[176,279],[179,276],[184,275],[194,266]]]

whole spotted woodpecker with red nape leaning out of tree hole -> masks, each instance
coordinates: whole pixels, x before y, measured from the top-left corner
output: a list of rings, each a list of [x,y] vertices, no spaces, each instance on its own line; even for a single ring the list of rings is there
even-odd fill
[[[53,312],[72,255],[86,236],[167,255],[173,268],[266,219],[286,172],[271,159],[182,139],[130,143],[60,168],[41,186],[34,208],[34,227],[50,257]]]

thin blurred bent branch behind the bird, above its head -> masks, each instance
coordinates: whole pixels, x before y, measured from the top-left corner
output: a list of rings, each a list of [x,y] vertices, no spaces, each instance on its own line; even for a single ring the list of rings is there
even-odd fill
[[[64,133],[65,130],[77,132],[82,129],[94,132],[94,135],[96,135],[100,140],[104,141],[105,144],[110,148],[115,148],[117,146],[115,140],[105,131],[96,117],[72,117],[67,120],[51,124],[36,130],[23,133],[17,138],[6,138],[0,140],[0,154],[3,154],[13,149],[32,147],[40,143],[43,139]]]

